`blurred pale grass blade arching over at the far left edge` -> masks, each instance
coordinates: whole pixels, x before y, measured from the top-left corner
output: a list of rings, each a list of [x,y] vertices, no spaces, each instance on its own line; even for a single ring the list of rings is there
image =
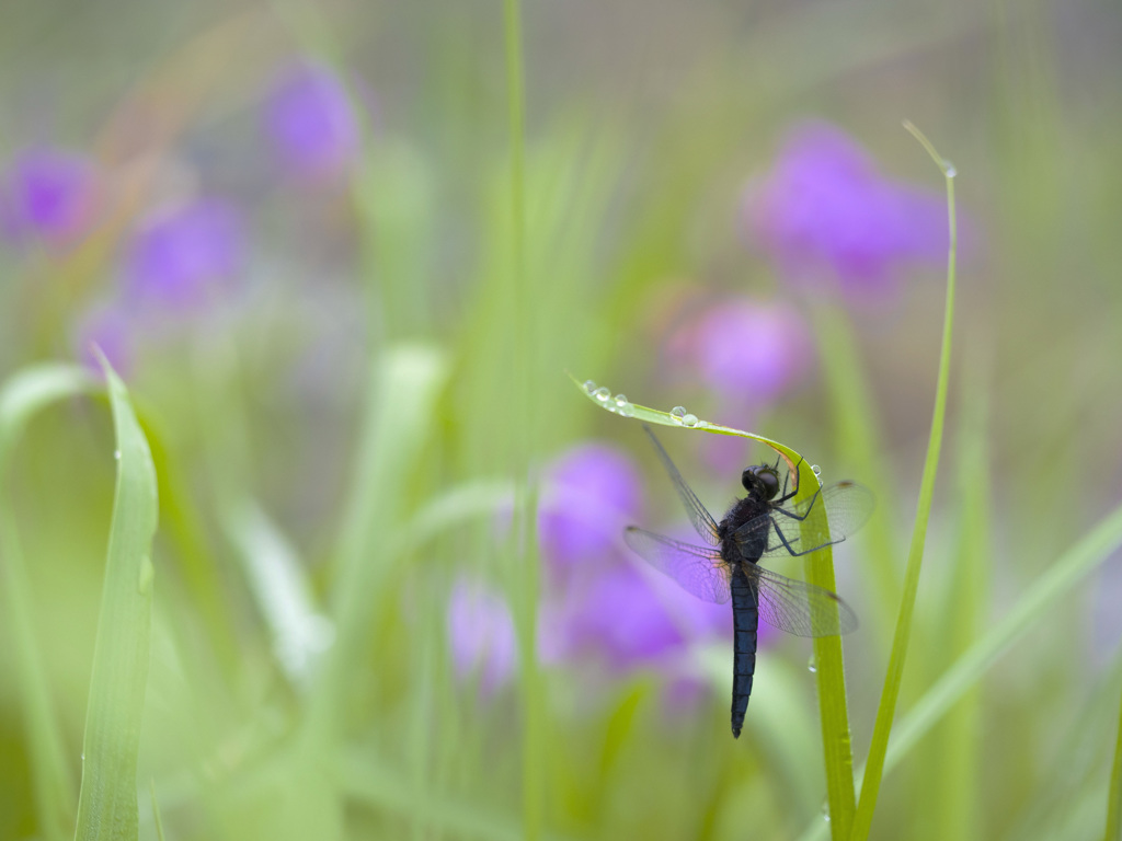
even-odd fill
[[[53,403],[96,387],[82,368],[67,364],[28,368],[4,383],[0,390],[0,484],[8,458],[31,417]],[[62,839],[73,825],[76,786],[36,638],[31,585],[7,503],[0,507],[0,551],[2,612],[10,632],[13,684],[26,722],[35,810],[43,835]]]

